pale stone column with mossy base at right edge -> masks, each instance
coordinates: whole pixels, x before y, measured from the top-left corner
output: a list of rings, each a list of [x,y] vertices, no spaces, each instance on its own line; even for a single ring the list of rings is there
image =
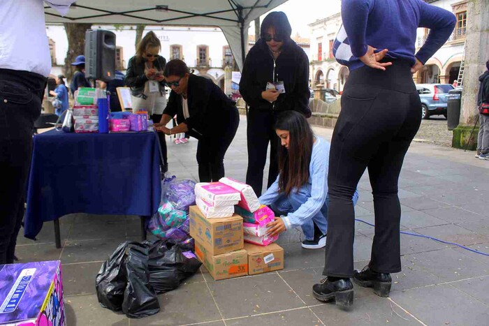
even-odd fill
[[[462,110],[460,124],[453,131],[452,147],[465,148],[479,119],[477,93],[479,76],[486,71],[489,59],[489,6],[487,0],[467,1],[467,37],[465,41],[465,68],[462,90]],[[469,149],[476,149],[477,132],[475,128],[469,142]]]

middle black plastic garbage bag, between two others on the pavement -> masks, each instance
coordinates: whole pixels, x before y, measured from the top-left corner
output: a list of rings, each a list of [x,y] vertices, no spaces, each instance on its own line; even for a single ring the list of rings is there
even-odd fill
[[[156,293],[149,283],[147,244],[129,244],[127,247],[126,276],[122,311],[131,318],[154,315],[159,311]]]

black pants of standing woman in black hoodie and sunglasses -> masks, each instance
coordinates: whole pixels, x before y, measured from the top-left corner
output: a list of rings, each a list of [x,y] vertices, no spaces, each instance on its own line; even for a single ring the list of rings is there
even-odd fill
[[[248,169],[246,183],[260,197],[263,188],[263,169],[267,161],[268,142],[270,142],[270,167],[268,168],[269,188],[279,175],[278,148],[280,140],[273,128],[276,112],[249,110],[247,117]]]

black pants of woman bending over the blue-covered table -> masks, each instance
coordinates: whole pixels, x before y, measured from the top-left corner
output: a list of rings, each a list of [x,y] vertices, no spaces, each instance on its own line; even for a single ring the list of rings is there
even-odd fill
[[[197,163],[200,182],[219,181],[224,177],[224,155],[233,142],[240,124],[238,109],[233,108],[226,118],[221,117],[221,123],[214,128],[215,133],[198,140]]]

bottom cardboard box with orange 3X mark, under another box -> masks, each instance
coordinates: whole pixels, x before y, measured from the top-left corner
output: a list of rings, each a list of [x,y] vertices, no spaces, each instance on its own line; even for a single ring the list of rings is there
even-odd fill
[[[202,244],[196,241],[195,251],[197,258],[216,281],[248,275],[248,254],[243,249],[221,255],[211,255]]]

